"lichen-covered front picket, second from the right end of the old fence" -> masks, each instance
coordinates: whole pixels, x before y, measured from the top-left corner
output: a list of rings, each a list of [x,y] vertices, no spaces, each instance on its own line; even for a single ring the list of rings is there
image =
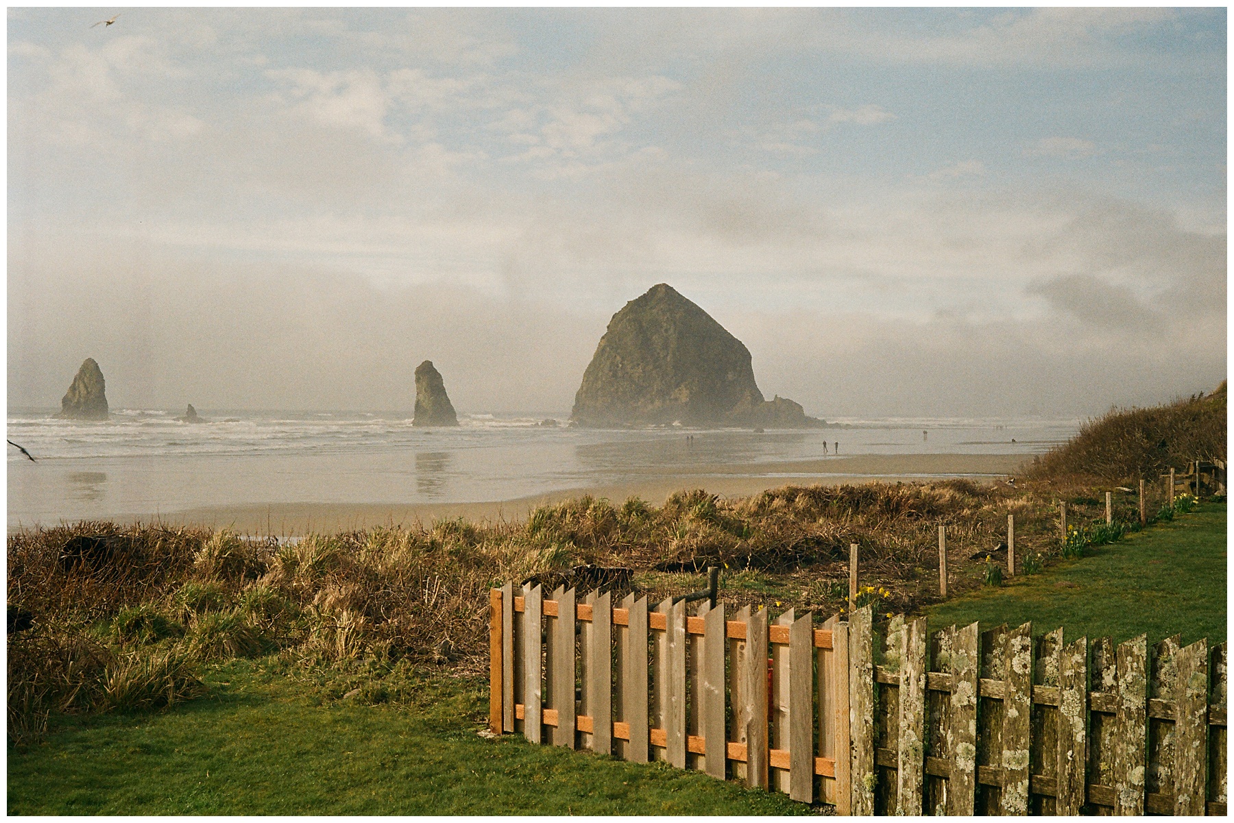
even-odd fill
[[[1114,813],[1144,814],[1148,738],[1148,638],[1118,647],[1118,711],[1114,714]]]

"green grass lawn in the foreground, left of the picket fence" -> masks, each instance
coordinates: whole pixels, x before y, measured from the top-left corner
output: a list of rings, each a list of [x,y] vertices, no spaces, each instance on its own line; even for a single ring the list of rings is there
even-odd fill
[[[407,705],[323,700],[237,661],[172,711],[60,721],[9,748],[10,814],[803,814],[787,796],[664,764],[485,739],[487,684]]]

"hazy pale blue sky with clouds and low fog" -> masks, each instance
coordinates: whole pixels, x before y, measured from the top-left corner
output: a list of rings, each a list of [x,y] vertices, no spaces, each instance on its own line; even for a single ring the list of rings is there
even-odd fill
[[[566,415],[669,283],[807,413],[1225,379],[1224,9],[10,9],[7,402]]]

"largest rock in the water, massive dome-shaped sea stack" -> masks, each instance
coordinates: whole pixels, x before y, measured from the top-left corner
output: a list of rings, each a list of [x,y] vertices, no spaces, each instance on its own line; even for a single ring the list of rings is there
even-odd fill
[[[570,418],[592,427],[824,424],[791,400],[764,400],[749,349],[663,283],[608,321]]]

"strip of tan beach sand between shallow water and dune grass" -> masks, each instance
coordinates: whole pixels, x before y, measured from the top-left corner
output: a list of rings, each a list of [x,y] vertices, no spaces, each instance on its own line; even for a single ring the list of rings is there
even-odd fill
[[[650,503],[660,505],[669,495],[681,489],[706,489],[732,498],[786,485],[912,482],[948,476],[992,482],[997,478],[1017,471],[1029,460],[1032,457],[1024,454],[871,454],[758,465],[701,465],[685,471],[650,469],[615,485],[564,489],[545,495],[491,502],[252,503],[191,508],[158,517],[130,515],[115,519],[147,523],[162,521],[169,524],[230,528],[242,534],[291,537],[374,526],[413,526],[454,517],[473,522],[521,521],[537,506],[585,494],[607,497],[615,502],[638,496]]]

